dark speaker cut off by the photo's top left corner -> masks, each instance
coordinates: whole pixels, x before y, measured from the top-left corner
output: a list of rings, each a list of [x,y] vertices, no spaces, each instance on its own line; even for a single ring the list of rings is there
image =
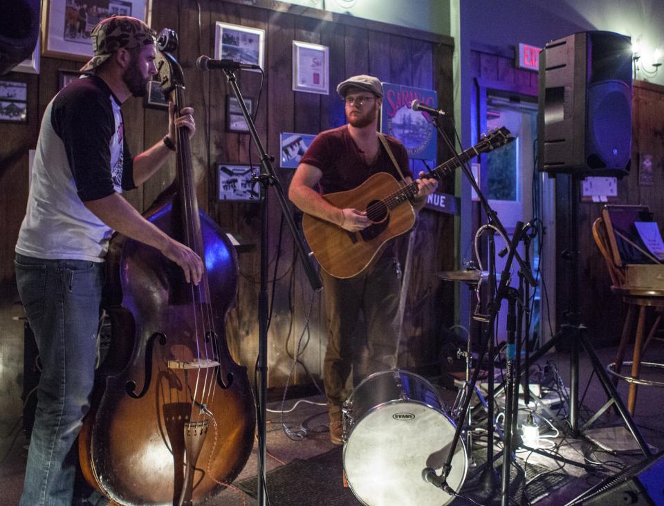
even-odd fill
[[[40,0],[0,0],[0,75],[30,57],[39,36]]]

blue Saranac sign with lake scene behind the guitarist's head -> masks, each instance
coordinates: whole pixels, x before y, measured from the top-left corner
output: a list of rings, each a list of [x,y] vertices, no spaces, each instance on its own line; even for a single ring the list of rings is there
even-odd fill
[[[400,84],[382,83],[382,111],[380,131],[403,142],[408,156],[420,160],[436,160],[436,127],[427,113],[413,111],[410,104],[419,100],[436,107],[438,94],[434,90],[413,88]]]

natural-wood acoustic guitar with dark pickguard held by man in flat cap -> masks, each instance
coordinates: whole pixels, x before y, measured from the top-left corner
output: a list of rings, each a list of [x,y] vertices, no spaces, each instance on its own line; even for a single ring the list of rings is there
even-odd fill
[[[513,140],[505,127],[490,131],[472,148],[463,151],[459,160],[465,163]],[[426,177],[439,179],[451,174],[457,166],[457,158],[451,158],[432,169]],[[355,189],[323,195],[340,209],[364,210],[372,223],[359,232],[349,232],[305,213],[302,218],[304,236],[320,266],[337,278],[351,278],[369,268],[388,241],[405,234],[415,223],[411,200],[417,192],[415,181],[403,186],[391,174],[379,172]]]

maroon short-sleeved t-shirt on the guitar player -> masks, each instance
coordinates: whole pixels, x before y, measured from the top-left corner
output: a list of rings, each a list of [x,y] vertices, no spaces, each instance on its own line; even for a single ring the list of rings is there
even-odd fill
[[[403,144],[389,135],[385,135],[385,139],[403,176],[412,177],[408,153]],[[348,131],[348,125],[344,125],[318,134],[304,153],[300,163],[313,165],[320,169],[322,177],[318,185],[322,194],[355,189],[377,172],[387,172],[396,180],[401,180],[401,176],[389,159],[382,142],[379,141],[378,157],[373,164],[367,166],[361,154],[360,147]]]

